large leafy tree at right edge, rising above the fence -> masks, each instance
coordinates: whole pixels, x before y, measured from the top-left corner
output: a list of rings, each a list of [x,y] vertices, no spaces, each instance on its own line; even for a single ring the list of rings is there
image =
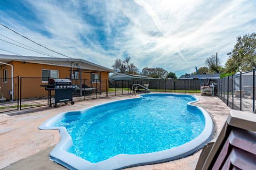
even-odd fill
[[[256,33],[237,37],[237,43],[232,52],[228,53],[226,73],[250,71],[256,67]]]

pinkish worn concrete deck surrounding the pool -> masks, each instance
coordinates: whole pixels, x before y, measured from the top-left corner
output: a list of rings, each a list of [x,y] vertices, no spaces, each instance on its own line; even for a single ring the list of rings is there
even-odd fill
[[[195,103],[203,107],[213,118],[214,138],[220,132],[230,108],[218,97],[197,96],[200,101]],[[66,111],[75,111],[85,107],[131,98],[131,96],[112,96],[97,100],[87,100],[74,106],[62,106],[23,114],[0,115],[0,168],[4,169],[66,169],[49,160],[49,153],[59,140],[58,130],[42,131],[38,126],[48,118]],[[146,165],[127,169],[194,169],[200,154],[174,160],[167,163]],[[11,165],[10,165],[11,164]],[[7,166],[7,167],[6,167]]]

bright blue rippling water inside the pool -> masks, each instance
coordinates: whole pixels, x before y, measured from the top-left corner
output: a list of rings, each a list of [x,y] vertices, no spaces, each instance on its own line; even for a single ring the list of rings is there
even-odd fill
[[[66,115],[52,126],[65,126],[71,154],[97,163],[118,154],[145,154],[195,139],[205,127],[199,109],[187,108],[191,96],[152,94],[100,105]]]

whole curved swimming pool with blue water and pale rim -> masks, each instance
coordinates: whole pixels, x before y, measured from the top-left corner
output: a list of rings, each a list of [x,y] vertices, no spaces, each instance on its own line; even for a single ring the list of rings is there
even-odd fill
[[[190,95],[141,95],[62,113],[39,128],[60,130],[50,156],[70,169],[165,162],[195,152],[211,137],[211,118],[190,105],[195,101]]]

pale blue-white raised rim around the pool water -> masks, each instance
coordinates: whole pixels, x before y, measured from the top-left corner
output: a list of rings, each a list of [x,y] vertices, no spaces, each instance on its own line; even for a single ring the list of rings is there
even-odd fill
[[[60,132],[61,140],[50,152],[51,160],[69,169],[95,169],[95,170],[96,169],[106,169],[106,170],[107,169],[123,169],[123,168],[133,167],[133,166],[168,162],[170,160],[186,157],[193,154],[197,150],[201,149],[207,142],[211,140],[213,135],[212,118],[202,107],[191,105],[199,101],[199,99],[194,95],[171,94],[171,93],[143,94],[143,95],[139,95],[139,97],[137,98],[110,101],[107,103],[87,107],[85,109],[82,109],[81,111],[71,111],[71,112],[73,114],[76,114],[76,113],[83,114],[87,110],[92,109],[94,107],[99,107],[101,105],[108,105],[112,103],[119,103],[124,100],[139,100],[146,95],[147,96],[148,95],[172,95],[172,96],[188,96],[188,97],[195,98],[194,101],[187,103],[187,107],[189,107],[190,109],[199,109],[202,112],[205,118],[204,130],[195,139],[175,148],[158,151],[158,152],[147,153],[147,154],[137,154],[137,155],[119,154],[98,163],[91,163],[85,159],[77,157],[66,151],[73,145],[73,141],[65,127],[63,126],[51,127],[51,125],[54,122],[58,121],[60,118],[70,113],[70,112],[63,112],[54,117],[51,117],[49,120],[46,120],[42,125],[39,126],[39,129],[41,130],[57,130],[58,129]]]

